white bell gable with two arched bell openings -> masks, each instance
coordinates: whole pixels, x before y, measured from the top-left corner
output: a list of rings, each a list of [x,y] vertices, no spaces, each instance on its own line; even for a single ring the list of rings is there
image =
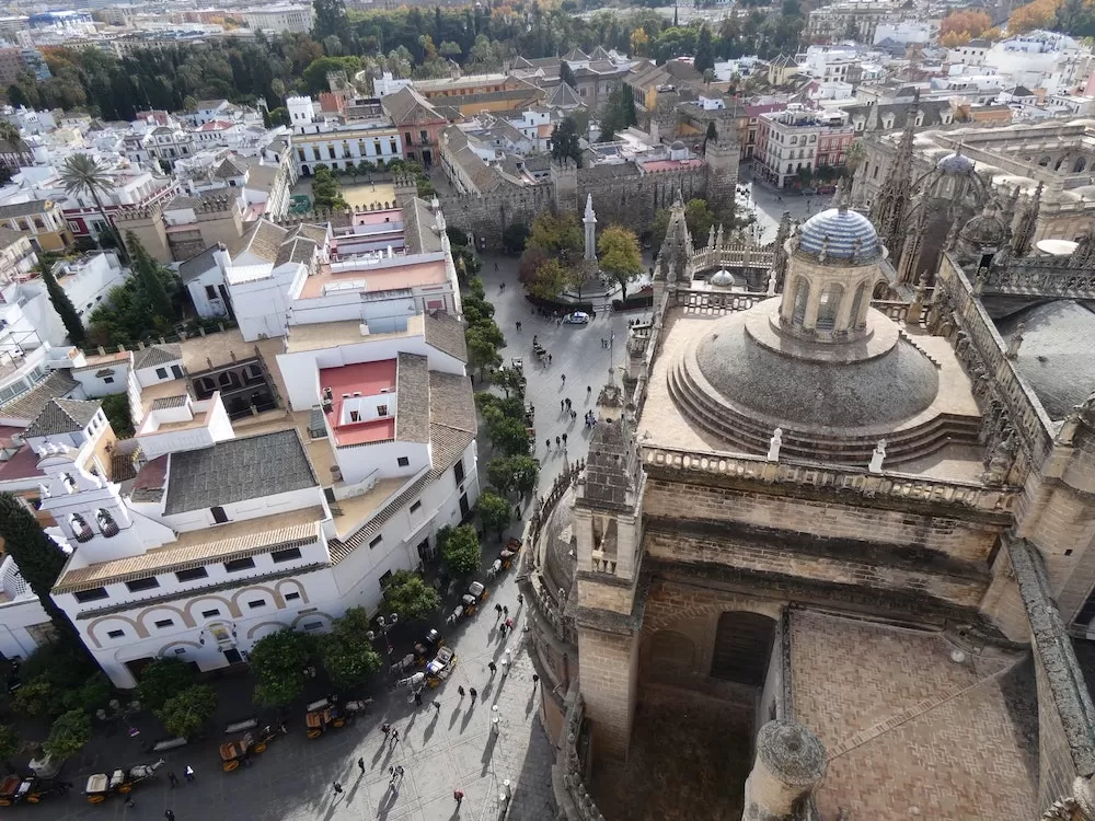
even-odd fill
[[[87,566],[145,552],[122,486],[77,464],[77,451],[65,444],[38,449],[41,509],[57,521],[76,548],[73,563]]]

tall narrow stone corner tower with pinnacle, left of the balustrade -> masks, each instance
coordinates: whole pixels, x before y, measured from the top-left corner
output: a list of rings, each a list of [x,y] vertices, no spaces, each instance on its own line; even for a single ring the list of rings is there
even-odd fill
[[[581,694],[597,749],[618,760],[631,741],[642,626],[635,590],[644,473],[631,414],[622,389],[606,385],[574,507]]]

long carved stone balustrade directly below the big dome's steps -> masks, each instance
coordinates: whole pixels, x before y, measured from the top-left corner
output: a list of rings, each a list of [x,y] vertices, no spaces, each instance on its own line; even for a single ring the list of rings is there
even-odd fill
[[[814,462],[769,462],[763,456],[737,453],[689,453],[669,448],[642,447],[647,469],[668,467],[716,476],[756,479],[769,484],[811,485],[818,488],[858,493],[867,497],[890,497],[977,510],[1002,512],[1012,509],[1019,489],[987,487],[970,482],[925,478],[902,473],[869,473],[854,467],[834,467]]]

